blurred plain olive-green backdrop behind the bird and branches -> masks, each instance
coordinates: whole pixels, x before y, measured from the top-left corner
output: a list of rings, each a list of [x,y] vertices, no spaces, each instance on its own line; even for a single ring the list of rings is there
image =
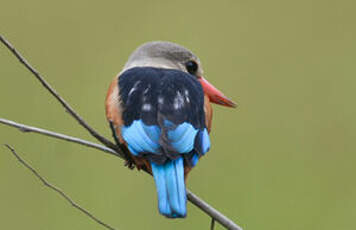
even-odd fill
[[[239,103],[215,106],[213,147],[189,188],[245,229],[355,229],[354,1],[11,1],[0,32],[96,129],[104,97],[141,43],[193,50]],[[93,140],[0,45],[0,117]],[[208,229],[156,208],[153,180],[102,152],[0,125],[52,183],[121,230]],[[103,229],[0,148],[1,229]],[[217,226],[216,229],[223,229]]]

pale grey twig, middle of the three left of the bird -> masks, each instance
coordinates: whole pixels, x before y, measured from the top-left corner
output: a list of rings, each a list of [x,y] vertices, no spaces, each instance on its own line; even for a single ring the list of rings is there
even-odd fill
[[[93,143],[90,141],[86,141],[86,140],[83,140],[83,139],[80,139],[77,137],[71,137],[71,136],[67,136],[65,134],[56,133],[56,132],[52,132],[49,130],[16,123],[14,121],[10,121],[10,120],[3,119],[3,118],[0,118],[0,123],[2,123],[4,125],[9,125],[9,126],[15,127],[18,130],[25,132],[25,133],[27,133],[27,132],[28,133],[38,133],[38,134],[42,134],[45,136],[54,137],[54,138],[69,141],[69,142],[74,142],[74,143],[85,145],[90,148],[95,148],[95,149],[98,149],[98,150],[101,150],[101,151],[104,151],[104,152],[107,152],[107,153],[110,153],[112,155],[122,158],[121,155],[119,155],[117,152],[115,152],[114,150],[112,150],[106,146],[99,145],[99,144],[96,144],[96,143]]]

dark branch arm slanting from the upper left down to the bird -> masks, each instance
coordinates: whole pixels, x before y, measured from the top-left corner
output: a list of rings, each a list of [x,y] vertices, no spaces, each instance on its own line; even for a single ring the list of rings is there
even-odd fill
[[[29,70],[31,71],[31,73],[33,73],[33,75],[37,78],[37,80],[39,80],[43,87],[45,87],[50,94],[52,94],[53,97],[55,97],[59,103],[62,104],[62,106],[66,109],[66,111],[75,119],[79,122],[79,124],[81,126],[83,126],[86,130],[89,131],[89,133],[95,137],[98,141],[100,141],[103,145],[114,149],[115,151],[117,151],[122,157],[124,157],[124,153],[122,152],[122,150],[115,145],[114,143],[112,143],[111,141],[109,141],[108,139],[106,139],[105,137],[101,136],[98,132],[96,132],[92,127],[90,127],[84,120],[83,118],[76,113],[72,107],[56,92],[56,90],[54,88],[52,88],[52,86],[41,76],[41,74],[35,69],[33,68],[30,63],[19,53],[17,52],[17,50],[15,49],[15,47],[8,42],[2,35],[0,35],[0,41],[17,57],[17,59]]]

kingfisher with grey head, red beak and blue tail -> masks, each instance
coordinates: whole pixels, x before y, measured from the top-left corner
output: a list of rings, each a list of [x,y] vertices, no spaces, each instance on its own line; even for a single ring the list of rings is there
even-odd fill
[[[113,137],[128,165],[153,175],[168,218],[187,214],[188,173],[210,149],[211,103],[236,106],[203,77],[196,55],[166,41],[139,46],[107,92]]]

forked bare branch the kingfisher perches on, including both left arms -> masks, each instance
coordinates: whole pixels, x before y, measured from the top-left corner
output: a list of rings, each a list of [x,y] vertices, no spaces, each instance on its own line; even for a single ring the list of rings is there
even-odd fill
[[[93,147],[99,150],[102,150],[104,152],[109,152],[113,155],[119,156],[123,159],[125,159],[125,154],[123,153],[123,150],[120,149],[118,146],[116,146],[115,144],[113,144],[112,142],[110,142],[109,140],[107,140],[105,137],[102,137],[99,133],[97,133],[93,128],[91,128],[70,106],[69,104],[64,101],[64,99],[62,99],[62,97],[59,96],[59,94],[41,77],[41,75],[26,61],[26,59],[24,59],[17,51],[16,49],[3,37],[0,35],[0,41],[2,43],[5,44],[5,46],[17,57],[17,59],[23,64],[25,65],[25,67],[30,70],[35,77],[43,84],[43,86],[66,108],[66,110],[84,127],[86,128],[90,134],[92,134],[97,140],[99,140],[102,144],[104,144],[105,146],[107,146],[108,148],[112,149],[113,151],[117,152],[117,154],[114,154],[113,151],[108,151],[108,149],[106,149],[104,146],[100,146],[97,145],[95,143],[89,142],[89,141],[85,141],[85,140],[81,140],[79,138],[75,138],[75,137],[69,137],[63,134],[59,134],[59,133],[54,133],[48,130],[44,130],[44,129],[38,129],[36,127],[31,127],[31,126],[26,126],[23,124],[18,124],[15,123],[13,121],[9,121],[6,119],[1,119],[0,123],[3,123],[5,125],[10,125],[16,128],[19,128],[20,130],[22,129],[22,127],[26,127],[24,130],[22,131],[31,131],[31,132],[36,132],[39,134],[43,134],[46,136],[50,136],[50,137],[55,137],[58,139],[63,139],[63,140],[67,140],[67,141],[71,141],[71,142],[75,142],[75,143],[79,143],[82,145],[86,145],[89,147]],[[39,130],[41,132],[39,132]],[[86,144],[84,144],[86,143]],[[95,146],[95,147],[94,147]],[[145,171],[145,170],[144,170]],[[147,172],[147,171],[146,171]],[[147,172],[149,173],[149,172]],[[241,227],[239,227],[238,225],[236,225],[232,220],[230,220],[229,218],[227,218],[225,215],[223,215],[222,213],[220,213],[219,211],[217,211],[216,209],[214,209],[213,207],[211,207],[209,204],[207,204],[205,201],[203,201],[202,199],[200,199],[197,195],[195,195],[194,193],[192,193],[191,191],[189,191],[187,189],[187,198],[188,200],[194,204],[195,206],[197,206],[199,209],[201,209],[203,212],[205,212],[206,214],[208,214],[210,217],[212,217],[213,219],[215,219],[216,221],[218,221],[221,225],[223,225],[224,227],[226,227],[227,229],[232,229],[232,230],[242,230]]]

